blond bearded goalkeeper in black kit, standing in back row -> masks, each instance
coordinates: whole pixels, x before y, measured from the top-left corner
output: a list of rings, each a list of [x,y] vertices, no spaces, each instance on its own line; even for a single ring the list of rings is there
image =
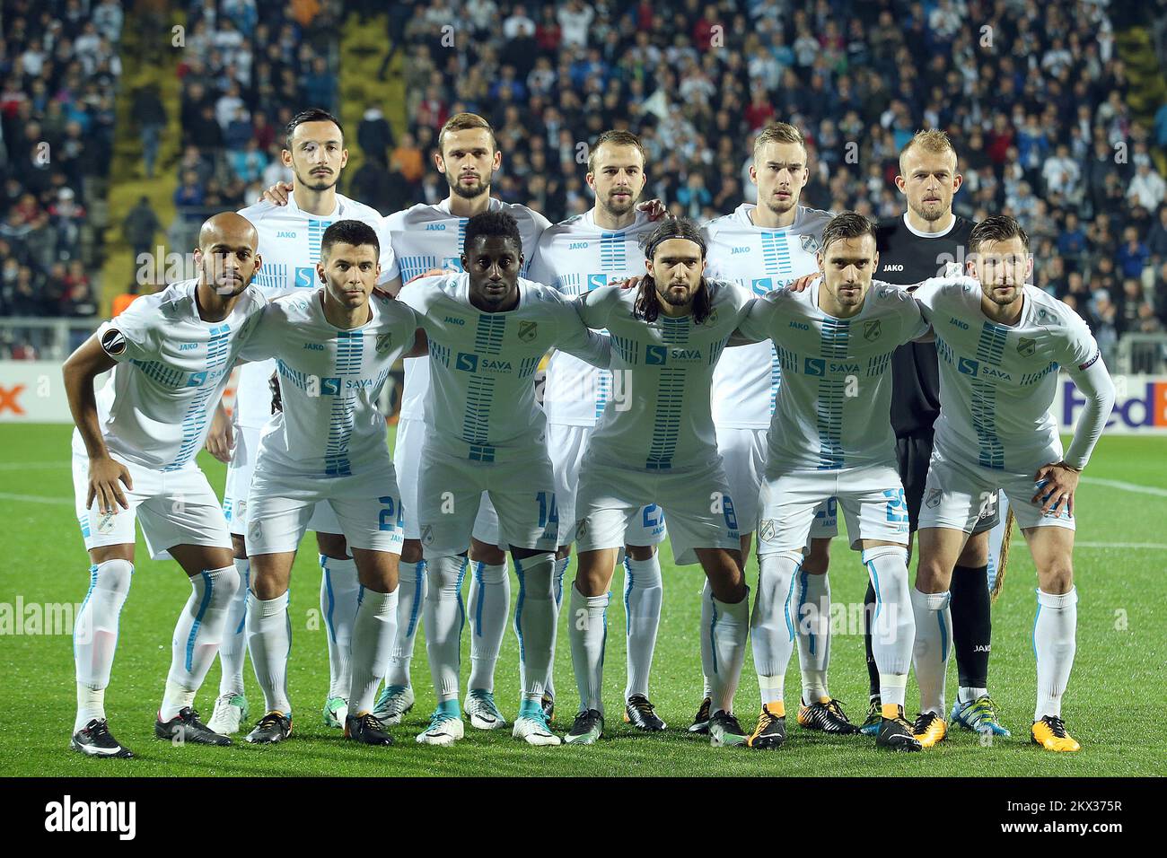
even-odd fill
[[[945,273],[949,264],[965,258],[973,223],[952,211],[952,197],[960,188],[957,155],[942,131],[922,131],[900,153],[900,175],[895,183],[904,195],[908,210],[878,229],[880,270],[875,277],[894,284],[914,284]],[[900,479],[908,501],[911,531],[920,523],[920,510],[932,451],[932,425],[939,414],[939,371],[935,343],[913,342],[896,350],[892,362],[892,425],[896,437]],[[992,640],[988,566],[992,561],[990,532],[998,521],[997,495],[986,500],[952,574],[951,605],[941,612],[944,637],[956,650],[960,683],[951,720],[967,730],[1008,735],[997,718],[997,706],[988,696],[988,655]],[[864,612],[867,670],[871,681],[871,707],[864,731],[879,728],[879,671],[872,655],[871,612],[875,592],[867,588]],[[944,710],[944,672],[948,651],[938,674],[927,674],[921,683],[928,711]],[[922,710],[923,711],[923,710]],[[941,741],[946,725],[941,718],[917,724],[917,738],[929,747]]]

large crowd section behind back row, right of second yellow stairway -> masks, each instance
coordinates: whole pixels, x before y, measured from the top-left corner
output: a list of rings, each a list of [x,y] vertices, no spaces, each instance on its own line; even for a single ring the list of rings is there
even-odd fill
[[[497,194],[552,222],[591,205],[581,144],[605,128],[640,134],[649,193],[706,219],[753,201],[753,134],[771,120],[806,134],[806,204],[875,217],[902,211],[899,151],[917,128],[941,127],[960,155],[957,214],[1018,217],[1037,285],[1100,340],[1167,322],[1165,184],[1151,158],[1167,124],[1154,138],[1132,119],[1105,2],[459,8],[432,0],[391,19],[410,133],[389,161],[410,200],[445,196],[428,163],[436,130],[463,110],[497,131]]]

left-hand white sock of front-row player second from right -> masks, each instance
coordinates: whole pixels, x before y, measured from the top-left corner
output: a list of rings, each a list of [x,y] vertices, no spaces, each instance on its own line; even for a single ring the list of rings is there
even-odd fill
[[[790,554],[759,558],[757,594],[749,628],[763,706],[782,699],[783,679],[795,651],[797,619],[790,602],[801,561],[801,557]]]

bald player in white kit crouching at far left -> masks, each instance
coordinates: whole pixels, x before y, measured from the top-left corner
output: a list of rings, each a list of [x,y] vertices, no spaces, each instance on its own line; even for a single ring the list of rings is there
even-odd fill
[[[133,754],[110,732],[105,689],[121,606],[134,572],[134,522],[152,559],[173,558],[190,579],[154,734],[230,745],[195,711],[239,588],[231,536],[195,454],[203,446],[239,349],[266,304],[252,277],[259,237],[235,212],[198,233],[198,277],[134,301],[104,322],[64,364],[77,521],[89,551],[89,592],[74,629],[77,718],[70,747],[90,756]],[[97,376],[112,370],[95,393]]]

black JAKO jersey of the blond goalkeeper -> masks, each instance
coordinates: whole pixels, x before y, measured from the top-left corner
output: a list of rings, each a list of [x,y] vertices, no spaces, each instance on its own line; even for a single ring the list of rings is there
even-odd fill
[[[880,222],[875,230],[879,270],[875,280],[902,286],[944,275],[948,263],[964,273],[969,236],[976,224],[957,216],[942,236],[925,238],[908,229],[903,216]],[[935,343],[910,342],[892,356],[892,427],[896,438],[931,434],[941,413],[939,365]]]

